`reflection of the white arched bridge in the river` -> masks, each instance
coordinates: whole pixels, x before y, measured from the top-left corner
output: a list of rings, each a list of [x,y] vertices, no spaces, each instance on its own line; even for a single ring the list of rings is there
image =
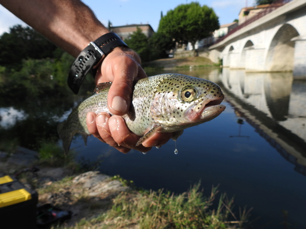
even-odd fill
[[[211,80],[221,86],[239,116],[306,176],[306,82],[295,83],[292,78],[292,73],[223,68]]]

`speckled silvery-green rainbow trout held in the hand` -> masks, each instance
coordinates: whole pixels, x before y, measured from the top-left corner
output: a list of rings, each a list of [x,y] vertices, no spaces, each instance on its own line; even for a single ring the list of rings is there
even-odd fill
[[[86,114],[110,111],[107,93],[111,83],[100,83],[96,94],[75,107],[67,120],[58,125],[65,152],[73,136],[80,133],[86,144],[90,134]],[[155,132],[176,132],[174,140],[188,127],[207,122],[224,111],[220,105],[224,95],[220,87],[206,79],[180,74],[163,74],[136,81],[128,114],[122,116],[128,128],[141,136],[137,145]],[[136,145],[136,146],[137,146]]]

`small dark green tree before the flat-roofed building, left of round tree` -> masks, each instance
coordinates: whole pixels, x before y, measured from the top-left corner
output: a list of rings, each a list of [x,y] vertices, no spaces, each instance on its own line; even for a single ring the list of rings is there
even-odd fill
[[[144,62],[150,60],[149,39],[137,27],[137,30],[131,34],[131,37],[125,39],[124,42],[140,56]]]

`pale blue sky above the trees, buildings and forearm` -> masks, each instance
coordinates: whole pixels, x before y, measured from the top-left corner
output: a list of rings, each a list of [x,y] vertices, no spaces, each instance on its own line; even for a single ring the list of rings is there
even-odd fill
[[[108,21],[113,26],[127,24],[150,24],[156,32],[159,25],[161,12],[163,15],[180,4],[188,4],[190,0],[83,0],[88,5],[97,18],[107,27]],[[227,24],[238,19],[238,14],[242,8],[253,6],[255,0],[198,0],[200,5],[212,7],[219,17],[219,23]],[[9,32],[9,27],[23,23],[20,19],[10,13],[0,5],[0,35]]]

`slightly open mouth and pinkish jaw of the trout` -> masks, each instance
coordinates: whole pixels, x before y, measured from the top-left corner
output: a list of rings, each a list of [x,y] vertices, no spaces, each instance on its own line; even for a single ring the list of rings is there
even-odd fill
[[[224,98],[209,101],[207,104],[200,105],[199,103],[190,107],[187,112],[189,121],[207,122],[222,113],[226,106],[221,102]]]

